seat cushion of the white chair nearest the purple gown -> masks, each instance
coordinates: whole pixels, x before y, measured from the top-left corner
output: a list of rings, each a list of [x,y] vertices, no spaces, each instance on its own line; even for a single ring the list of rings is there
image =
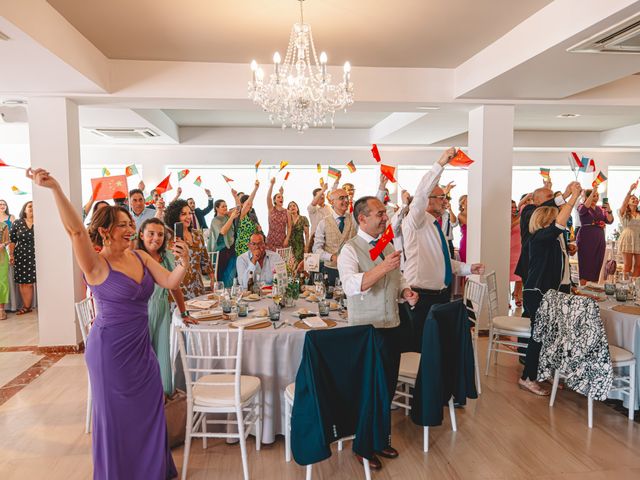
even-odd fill
[[[193,386],[193,401],[204,407],[227,407],[235,404],[234,375],[204,375]],[[207,382],[228,382],[232,385],[203,385]],[[246,402],[260,390],[260,379],[240,376],[240,401]]]

